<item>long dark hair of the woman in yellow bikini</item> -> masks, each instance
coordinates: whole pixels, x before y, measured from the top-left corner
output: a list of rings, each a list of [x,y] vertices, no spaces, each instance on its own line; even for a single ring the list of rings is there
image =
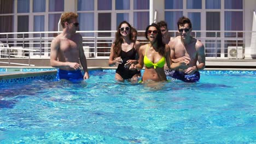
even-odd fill
[[[146,28],[145,31],[145,37],[146,39],[148,39],[148,29],[149,27],[155,27],[158,30],[158,35],[156,37],[156,40],[158,41],[158,47],[156,47],[156,51],[161,55],[161,56],[165,56],[165,44],[162,43],[162,33],[160,28],[158,27],[158,25],[156,25],[156,23],[152,23],[151,25],[149,25]],[[148,39],[149,40],[149,39]]]

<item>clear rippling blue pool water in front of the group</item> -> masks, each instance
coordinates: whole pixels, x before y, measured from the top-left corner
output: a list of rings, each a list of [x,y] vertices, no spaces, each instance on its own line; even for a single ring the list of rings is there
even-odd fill
[[[0,85],[0,143],[255,143],[256,74],[202,72],[197,83]]]

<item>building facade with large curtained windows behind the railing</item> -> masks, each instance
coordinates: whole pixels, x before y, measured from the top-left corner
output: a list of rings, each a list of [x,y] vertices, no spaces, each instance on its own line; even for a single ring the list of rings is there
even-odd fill
[[[193,24],[194,37],[205,44],[207,57],[228,57],[229,46],[242,47],[246,58],[256,54],[255,0],[0,0],[0,8],[0,33],[58,31],[64,11],[79,14],[80,31],[115,31],[123,20],[138,31],[164,20],[169,31],[177,31],[177,20],[184,15]]]

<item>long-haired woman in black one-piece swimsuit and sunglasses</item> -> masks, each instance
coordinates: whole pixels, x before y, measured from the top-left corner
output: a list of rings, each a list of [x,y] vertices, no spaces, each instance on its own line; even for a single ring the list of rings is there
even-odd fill
[[[139,49],[139,43],[132,40],[130,30],[130,23],[127,21],[121,22],[110,50],[108,65],[112,67],[118,64],[118,68],[115,71],[115,79],[118,81],[137,80],[138,77],[137,70],[129,69],[132,63],[137,64],[136,53]]]

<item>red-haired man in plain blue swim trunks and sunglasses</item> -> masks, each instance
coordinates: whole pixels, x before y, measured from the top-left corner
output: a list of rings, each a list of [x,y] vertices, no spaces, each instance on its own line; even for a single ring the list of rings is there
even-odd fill
[[[89,79],[86,57],[83,50],[83,39],[78,33],[78,15],[75,13],[63,13],[61,26],[63,31],[51,41],[50,64],[59,68],[60,79],[80,80]],[[82,64],[84,75],[80,70]]]

